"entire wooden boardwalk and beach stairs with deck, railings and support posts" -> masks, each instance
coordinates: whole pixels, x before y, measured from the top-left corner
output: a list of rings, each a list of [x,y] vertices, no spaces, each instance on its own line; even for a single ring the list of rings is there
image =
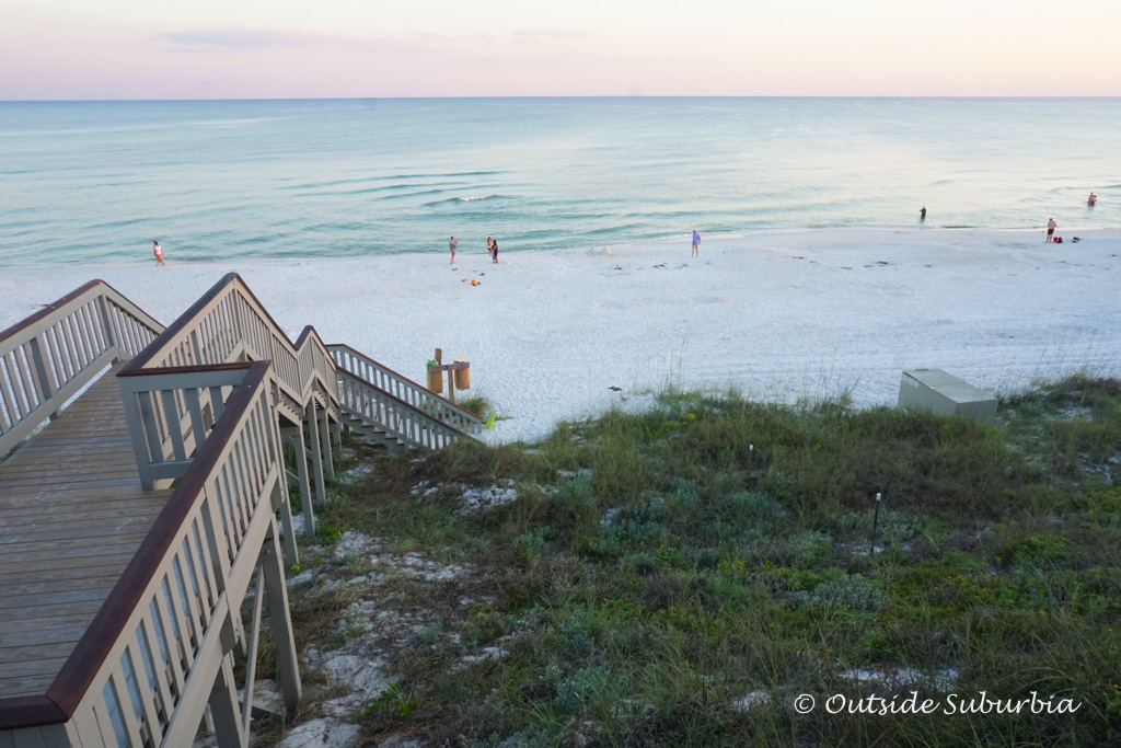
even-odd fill
[[[234,274],[166,329],[95,280],[0,332],[0,748],[178,747],[204,718],[248,746],[262,601],[300,694],[288,478],[314,533],[342,428],[401,451],[481,427],[313,327],[288,340]]]

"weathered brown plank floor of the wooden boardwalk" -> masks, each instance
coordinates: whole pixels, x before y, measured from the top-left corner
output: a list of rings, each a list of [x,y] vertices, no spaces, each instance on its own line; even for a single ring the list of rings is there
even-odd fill
[[[119,368],[0,463],[0,698],[46,692],[172,495],[141,490]]]

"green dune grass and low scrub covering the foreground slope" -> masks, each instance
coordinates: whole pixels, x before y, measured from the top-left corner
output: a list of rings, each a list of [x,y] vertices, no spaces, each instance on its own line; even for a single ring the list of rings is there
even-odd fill
[[[481,601],[395,654],[405,708],[379,702],[363,729],[470,746],[1121,739],[1119,459],[1121,385],[1075,376],[1007,398],[997,426],[669,390],[535,445],[379,460],[324,523],[470,562]],[[418,500],[420,481],[442,488]],[[517,500],[462,510],[461,484],[504,481]],[[912,691],[938,710],[825,708]],[[980,692],[1078,709],[945,713]]]

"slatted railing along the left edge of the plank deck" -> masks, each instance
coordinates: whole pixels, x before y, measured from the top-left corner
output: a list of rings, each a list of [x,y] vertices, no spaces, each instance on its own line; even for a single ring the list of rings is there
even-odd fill
[[[0,458],[163,330],[112,286],[91,280],[0,332]]]

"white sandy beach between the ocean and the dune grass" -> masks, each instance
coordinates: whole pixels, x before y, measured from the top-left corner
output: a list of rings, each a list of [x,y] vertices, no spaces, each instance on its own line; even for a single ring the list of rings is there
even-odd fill
[[[493,438],[532,440],[666,384],[784,401],[851,391],[870,406],[895,404],[900,372],[918,367],[999,393],[1081,368],[1115,376],[1121,230],[1059,234],[703,236],[700,259],[687,238],[606,251],[503,242],[500,265],[461,251],[455,269],[446,252],[178,264],[168,244],[166,268],[0,268],[0,329],[91,278],[168,324],[234,270],[293,338],[313,324],[421,382],[434,348],[469,353],[470,395],[507,418]]]

